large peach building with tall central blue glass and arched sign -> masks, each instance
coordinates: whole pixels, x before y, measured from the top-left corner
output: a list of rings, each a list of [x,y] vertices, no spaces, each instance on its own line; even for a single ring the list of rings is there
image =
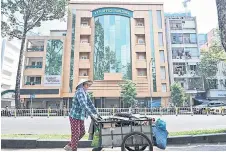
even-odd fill
[[[141,107],[170,98],[163,3],[73,2],[66,31],[27,38],[25,107],[70,107],[80,79],[93,80],[95,106],[125,107],[119,83],[136,83]],[[151,92],[151,93],[150,93]],[[31,96],[32,95],[32,96]]]

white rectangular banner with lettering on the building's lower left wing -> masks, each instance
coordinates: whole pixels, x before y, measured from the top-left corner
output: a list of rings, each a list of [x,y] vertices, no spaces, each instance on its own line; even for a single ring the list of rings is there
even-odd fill
[[[60,75],[46,75],[44,77],[45,86],[60,86],[61,76]]]

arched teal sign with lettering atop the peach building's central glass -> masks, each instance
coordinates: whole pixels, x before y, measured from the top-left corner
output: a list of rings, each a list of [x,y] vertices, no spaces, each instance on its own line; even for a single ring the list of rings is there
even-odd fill
[[[92,12],[93,17],[101,15],[121,15],[126,17],[133,17],[133,12],[124,8],[99,8]]]

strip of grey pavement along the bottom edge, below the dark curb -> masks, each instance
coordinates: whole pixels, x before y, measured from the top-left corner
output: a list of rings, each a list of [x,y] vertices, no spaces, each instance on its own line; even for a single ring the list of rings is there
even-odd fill
[[[91,148],[78,149],[79,151],[91,151]],[[120,148],[106,148],[102,151],[120,151]],[[2,151],[64,151],[63,149],[2,149]],[[154,148],[154,151],[163,151]],[[164,151],[226,151],[226,143],[222,144],[202,144],[202,145],[182,145],[182,146],[168,146]]]

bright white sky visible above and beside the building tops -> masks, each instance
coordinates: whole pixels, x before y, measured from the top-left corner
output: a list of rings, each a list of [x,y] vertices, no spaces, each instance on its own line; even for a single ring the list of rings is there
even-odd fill
[[[76,0],[84,1],[84,0]],[[96,1],[96,0],[85,0]],[[101,1],[119,1],[119,0],[98,0]],[[164,12],[184,12],[185,8],[182,5],[184,0],[121,0],[123,2],[163,2]],[[201,9],[200,9],[201,8]],[[188,3],[186,10],[191,11],[192,16],[197,17],[198,33],[208,33],[218,25],[217,8],[215,0],[191,0]],[[57,26],[56,26],[57,25]],[[43,22],[40,28],[34,29],[34,32],[39,32],[41,35],[49,35],[49,30],[65,30],[67,23],[54,20],[51,22]]]

